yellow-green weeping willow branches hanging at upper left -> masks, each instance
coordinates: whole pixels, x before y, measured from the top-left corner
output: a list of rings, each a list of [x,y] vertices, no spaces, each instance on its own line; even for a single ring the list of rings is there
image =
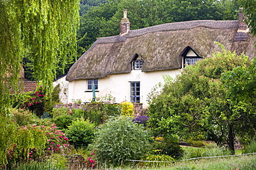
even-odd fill
[[[79,0],[0,0],[0,113],[18,84],[21,61],[29,55],[35,79],[50,94],[58,62],[75,56]]]

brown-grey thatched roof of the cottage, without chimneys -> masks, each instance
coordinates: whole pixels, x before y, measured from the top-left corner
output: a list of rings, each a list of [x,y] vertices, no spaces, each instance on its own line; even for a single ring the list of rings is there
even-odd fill
[[[221,50],[217,41],[237,54],[255,56],[255,37],[234,41],[238,21],[185,21],[129,30],[127,34],[98,38],[69,70],[66,80],[102,78],[108,74],[131,72],[135,54],[144,59],[143,72],[181,68],[185,47],[199,56],[210,57]],[[239,39],[237,39],[239,40]]]

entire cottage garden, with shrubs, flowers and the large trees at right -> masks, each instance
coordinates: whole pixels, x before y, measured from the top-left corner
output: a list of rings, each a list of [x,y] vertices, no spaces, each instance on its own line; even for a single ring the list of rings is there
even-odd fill
[[[51,95],[44,85],[12,94],[1,114],[0,166],[255,169],[255,65],[223,48],[176,80],[163,76],[149,93],[147,113],[136,116],[133,103],[115,103],[110,94],[79,109],[53,108],[58,86]]]

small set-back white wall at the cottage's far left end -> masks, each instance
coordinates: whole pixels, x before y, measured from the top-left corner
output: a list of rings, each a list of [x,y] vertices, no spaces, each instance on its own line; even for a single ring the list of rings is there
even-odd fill
[[[68,103],[68,81],[66,81],[66,76],[53,81],[53,87],[58,84],[60,84],[60,102],[66,104]]]

